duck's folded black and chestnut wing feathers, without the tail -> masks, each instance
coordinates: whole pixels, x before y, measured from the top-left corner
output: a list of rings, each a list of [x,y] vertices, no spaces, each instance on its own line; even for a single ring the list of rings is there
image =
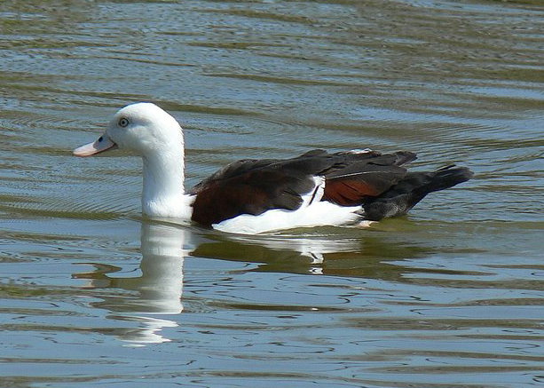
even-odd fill
[[[400,166],[415,154],[343,152],[316,149],[292,159],[245,159],[233,162],[194,186],[193,220],[211,226],[240,214],[296,210],[302,195],[314,189],[312,177],[326,178],[323,201],[358,205],[375,197],[406,175]]]

